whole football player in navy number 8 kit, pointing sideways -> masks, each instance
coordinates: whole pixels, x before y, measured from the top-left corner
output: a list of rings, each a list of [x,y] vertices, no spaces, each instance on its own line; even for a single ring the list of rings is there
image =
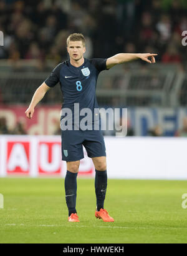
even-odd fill
[[[42,100],[50,88],[60,83],[62,95],[64,96],[60,123],[62,130],[62,160],[67,162],[64,185],[65,200],[69,210],[68,220],[69,222],[79,222],[76,211],[77,173],[79,172],[80,159],[84,158],[82,148],[82,145],[84,145],[88,156],[92,158],[95,166],[95,194],[97,199],[95,217],[101,218],[104,222],[114,222],[113,218],[108,215],[107,210],[104,208],[105,194],[107,191],[107,163],[105,143],[100,126],[100,115],[95,96],[98,74],[105,69],[112,68],[116,64],[135,59],[155,63],[154,56],[157,54],[119,53],[106,59],[85,59],[85,50],[84,36],[77,33],[70,34],[67,38],[67,52],[69,53],[70,59],[58,64],[49,78],[37,88],[32,97],[31,104],[26,110],[26,116],[27,118],[32,118],[37,103]],[[80,122],[84,116],[77,118],[75,113],[77,112],[79,114],[77,103],[79,103],[80,111],[88,108],[92,113],[92,120],[87,122],[89,126],[87,130],[80,126]],[[71,118],[63,113],[66,110],[71,111]],[[64,129],[65,122],[69,123],[70,128],[67,130]],[[94,128],[95,124],[98,124],[97,129]]]

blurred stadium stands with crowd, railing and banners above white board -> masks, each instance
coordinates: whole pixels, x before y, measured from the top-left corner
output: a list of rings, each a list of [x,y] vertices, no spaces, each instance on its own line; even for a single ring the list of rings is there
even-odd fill
[[[187,30],[186,8],[185,1],[175,0],[0,1],[0,133],[59,134],[59,116],[50,130],[37,131],[29,130],[31,122],[21,113],[54,66],[68,58],[66,38],[77,31],[86,36],[86,58],[158,53],[155,65],[133,61],[100,74],[98,103],[128,107],[128,135],[185,136],[187,48],[181,34]],[[40,107],[59,110],[61,104],[56,86]],[[12,115],[17,111],[16,120],[5,116],[6,109]]]

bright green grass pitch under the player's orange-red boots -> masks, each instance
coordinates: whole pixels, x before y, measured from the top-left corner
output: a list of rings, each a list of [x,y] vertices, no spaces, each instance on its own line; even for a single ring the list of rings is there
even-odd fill
[[[105,208],[95,218],[94,179],[78,178],[80,223],[67,222],[64,180],[0,178],[0,243],[186,243],[186,181],[108,180]]]

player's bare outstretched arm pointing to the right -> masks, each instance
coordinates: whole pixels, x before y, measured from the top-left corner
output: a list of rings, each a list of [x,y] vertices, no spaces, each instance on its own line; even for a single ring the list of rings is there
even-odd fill
[[[155,57],[158,54],[155,53],[118,53],[107,59],[107,69],[112,68],[117,64],[122,64],[135,59],[142,59],[148,63],[155,63]]]

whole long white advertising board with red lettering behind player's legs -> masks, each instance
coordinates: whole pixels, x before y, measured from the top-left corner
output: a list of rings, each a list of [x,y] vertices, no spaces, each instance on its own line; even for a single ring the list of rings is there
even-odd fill
[[[65,177],[67,168],[66,162],[61,160],[60,140],[60,136],[0,135],[0,177]],[[187,180],[186,143],[187,138],[106,136],[107,176]],[[173,148],[177,148],[177,152]],[[79,175],[89,178],[95,175],[92,159],[85,148]]]

